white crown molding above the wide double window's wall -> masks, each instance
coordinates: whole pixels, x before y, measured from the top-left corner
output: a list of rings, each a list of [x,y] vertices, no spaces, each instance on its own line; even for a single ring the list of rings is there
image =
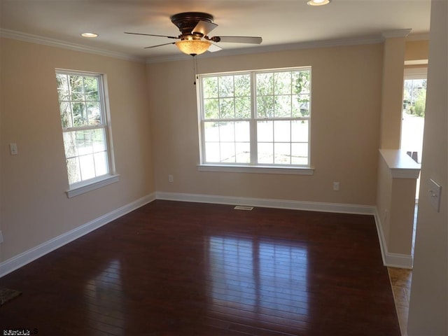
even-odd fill
[[[265,52],[277,52],[277,51],[288,51],[288,50],[301,50],[301,49],[314,49],[314,48],[331,48],[331,47],[341,47],[349,45],[366,45],[381,43],[384,39],[381,35],[370,35],[370,36],[360,36],[352,38],[338,38],[333,40],[322,40],[322,41],[307,41],[300,43],[287,43],[279,45],[265,45],[260,47],[252,48],[241,48],[234,50],[220,50],[218,52],[206,52],[200,56],[200,58],[209,57],[226,57],[235,55],[250,55],[250,54],[260,54]],[[146,59],[146,64],[161,63],[161,62],[174,62],[186,60],[190,55],[185,55],[180,53],[179,55],[173,56],[169,55],[166,57],[150,57]]]

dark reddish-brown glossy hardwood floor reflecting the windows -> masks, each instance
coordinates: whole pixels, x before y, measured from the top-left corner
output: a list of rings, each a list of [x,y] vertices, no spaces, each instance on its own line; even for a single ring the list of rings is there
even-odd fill
[[[37,335],[400,335],[372,216],[157,200],[0,287]]]

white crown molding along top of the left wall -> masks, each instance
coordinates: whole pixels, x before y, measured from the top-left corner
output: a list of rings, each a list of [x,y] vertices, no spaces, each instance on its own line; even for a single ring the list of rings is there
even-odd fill
[[[133,55],[125,54],[123,52],[116,52],[111,50],[104,50],[100,48],[86,47],[76,43],[69,43],[66,41],[57,40],[55,38],[48,38],[33,34],[22,33],[20,31],[14,31],[10,29],[0,29],[0,37],[11,38],[18,41],[48,45],[51,47],[64,48],[69,50],[75,50],[80,52],[89,52],[95,55],[113,57],[118,59],[125,59],[127,61],[144,63],[144,58],[136,57]]]

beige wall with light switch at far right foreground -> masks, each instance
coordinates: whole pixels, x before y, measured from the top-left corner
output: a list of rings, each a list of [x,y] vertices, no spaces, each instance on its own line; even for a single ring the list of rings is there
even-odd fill
[[[448,335],[448,3],[431,2],[421,188],[408,335]],[[430,205],[428,181],[442,186],[440,212]]]

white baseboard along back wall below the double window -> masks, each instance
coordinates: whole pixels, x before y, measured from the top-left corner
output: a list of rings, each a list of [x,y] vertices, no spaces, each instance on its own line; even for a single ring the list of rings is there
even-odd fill
[[[294,200],[272,200],[250,197],[232,197],[201,194],[165,193],[157,192],[158,200],[171,200],[181,202],[199,202],[215,204],[247,205],[251,207],[265,207],[278,209],[293,209],[306,211],[336,212],[342,214],[374,215],[375,207],[369,205],[337,204],[323,202],[302,202]]]

